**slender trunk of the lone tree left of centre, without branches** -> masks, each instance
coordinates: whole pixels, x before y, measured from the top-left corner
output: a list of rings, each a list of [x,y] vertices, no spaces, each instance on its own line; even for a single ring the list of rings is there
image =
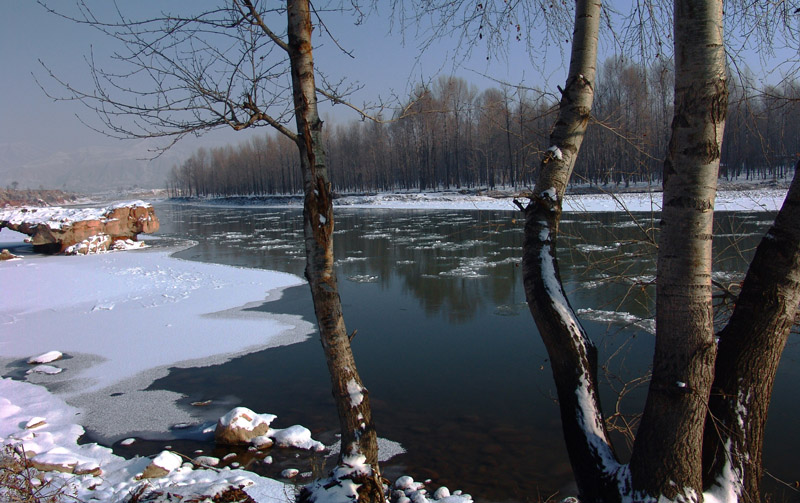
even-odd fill
[[[372,467],[372,475],[359,481],[362,484],[359,499],[378,501],[383,498],[369,393],[356,370],[333,268],[333,199],[322,143],[322,121],[317,113],[309,2],[290,0],[287,7],[297,146],[305,193],[305,275],[311,286],[314,312],[339,412],[342,434],[339,464],[352,465],[358,463],[359,456],[364,456]],[[378,495],[367,494],[370,491],[378,491]]]

